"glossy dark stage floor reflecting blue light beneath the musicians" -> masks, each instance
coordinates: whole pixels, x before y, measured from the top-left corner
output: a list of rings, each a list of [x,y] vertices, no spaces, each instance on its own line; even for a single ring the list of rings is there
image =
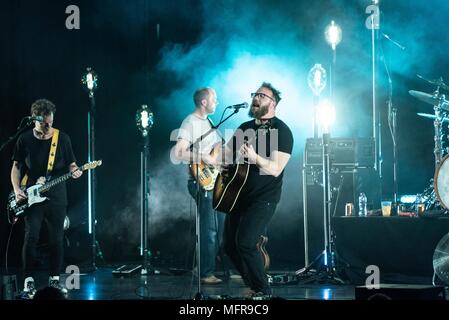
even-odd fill
[[[157,270],[160,274],[115,277],[113,268],[99,268],[82,273],[80,288],[69,291],[70,300],[194,299],[198,292],[196,276],[191,272]],[[181,272],[179,272],[181,273]],[[280,273],[281,274],[281,273]],[[218,275],[220,276],[220,275]],[[66,276],[61,277],[65,281]],[[38,283],[39,286],[39,283]],[[275,284],[273,297],[287,300],[353,300],[353,285]],[[202,285],[201,292],[210,299],[243,299],[248,288],[241,279],[229,279],[215,285]]]

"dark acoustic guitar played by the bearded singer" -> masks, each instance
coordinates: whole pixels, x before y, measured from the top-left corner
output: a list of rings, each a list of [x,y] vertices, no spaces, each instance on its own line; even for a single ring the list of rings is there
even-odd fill
[[[261,125],[257,133],[264,132],[271,128],[270,122]],[[259,131],[261,130],[261,131]],[[246,144],[251,144],[256,137],[248,140]],[[240,158],[240,157],[239,157]],[[230,213],[237,203],[240,192],[248,179],[250,164],[245,159],[243,163],[236,159],[236,164],[229,166],[226,174],[218,174],[215,181],[212,197],[212,206],[215,210]]]

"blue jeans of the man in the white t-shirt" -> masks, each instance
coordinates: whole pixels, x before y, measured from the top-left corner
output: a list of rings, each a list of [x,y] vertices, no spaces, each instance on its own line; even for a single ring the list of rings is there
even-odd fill
[[[190,195],[197,200],[197,184],[188,181]],[[215,262],[221,246],[224,214],[212,208],[212,192],[200,188],[199,193],[199,225],[200,225],[200,277],[208,277],[215,272]],[[220,232],[221,231],[221,232]]]

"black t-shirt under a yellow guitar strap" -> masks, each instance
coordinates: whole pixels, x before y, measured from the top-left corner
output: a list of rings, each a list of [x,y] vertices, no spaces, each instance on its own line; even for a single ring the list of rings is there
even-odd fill
[[[22,177],[25,173],[28,174],[27,187],[36,184],[39,177],[46,176],[51,141],[52,138],[37,139],[33,130],[22,133],[17,139],[12,160],[22,164]],[[76,159],[70,137],[60,131],[53,171],[50,173],[50,177],[47,177],[47,181],[69,172],[69,165],[73,162],[76,162]],[[50,198],[52,204],[67,205],[65,182],[52,187],[45,193],[45,196]]]

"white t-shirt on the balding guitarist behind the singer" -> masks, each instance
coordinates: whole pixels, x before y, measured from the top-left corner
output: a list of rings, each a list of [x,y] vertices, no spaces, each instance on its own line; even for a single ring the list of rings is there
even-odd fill
[[[208,119],[201,119],[194,114],[190,114],[184,119],[179,128],[178,139],[185,139],[190,143],[193,143],[211,128],[212,126]],[[214,130],[199,143],[200,154],[210,153],[213,146],[219,142],[221,142],[221,138],[218,135],[217,130]]]

